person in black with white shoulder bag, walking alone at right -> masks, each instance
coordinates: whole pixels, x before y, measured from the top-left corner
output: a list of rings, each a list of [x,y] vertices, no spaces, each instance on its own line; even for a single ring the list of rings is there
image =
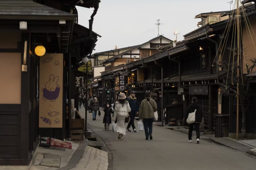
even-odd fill
[[[192,132],[193,132],[194,126],[196,128],[196,143],[199,143],[199,139],[200,139],[199,126],[200,126],[200,123],[202,122],[202,117],[203,117],[202,108],[198,104],[197,98],[193,97],[192,98],[192,104],[190,104],[187,108],[186,120],[188,118],[188,114],[194,112],[195,109],[197,109],[196,110],[196,115],[195,115],[195,122],[189,124],[189,131],[188,131],[188,142],[189,143],[192,142]]]

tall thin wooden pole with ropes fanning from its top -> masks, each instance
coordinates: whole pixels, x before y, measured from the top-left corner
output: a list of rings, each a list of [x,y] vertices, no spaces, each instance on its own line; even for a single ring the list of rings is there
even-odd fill
[[[240,32],[239,32],[239,1],[237,0],[237,134],[238,139],[238,122],[239,122],[239,56],[240,56]]]

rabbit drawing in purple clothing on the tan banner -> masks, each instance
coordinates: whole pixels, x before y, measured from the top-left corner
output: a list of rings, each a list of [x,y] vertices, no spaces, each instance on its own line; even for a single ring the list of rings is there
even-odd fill
[[[57,84],[58,80],[59,76],[50,75],[49,81],[45,83],[45,88],[42,88],[43,100],[56,101],[60,93],[60,86]]]

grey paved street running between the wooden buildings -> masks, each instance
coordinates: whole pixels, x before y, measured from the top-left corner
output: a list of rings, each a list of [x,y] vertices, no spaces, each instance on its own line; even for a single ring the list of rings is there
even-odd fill
[[[83,107],[80,113],[84,116]],[[145,140],[144,131],[126,132],[124,140],[117,133],[104,129],[104,112],[92,120],[88,113],[88,127],[105,142],[113,160],[112,169],[255,169],[256,157],[201,139],[188,143],[187,135],[153,126],[153,140]],[[137,122],[137,121],[135,121]],[[136,125],[136,123],[135,123]],[[109,167],[111,169],[111,167]]]

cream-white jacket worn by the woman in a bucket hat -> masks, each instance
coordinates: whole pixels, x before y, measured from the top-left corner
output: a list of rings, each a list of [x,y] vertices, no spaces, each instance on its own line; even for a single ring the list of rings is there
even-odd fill
[[[116,101],[114,115],[113,115],[112,120],[115,121],[116,117],[127,117],[129,115],[128,112],[130,112],[130,111],[131,111],[131,108],[130,108],[128,101],[126,101],[126,104],[124,104],[124,107],[122,107],[122,104],[120,104],[118,101]]]

